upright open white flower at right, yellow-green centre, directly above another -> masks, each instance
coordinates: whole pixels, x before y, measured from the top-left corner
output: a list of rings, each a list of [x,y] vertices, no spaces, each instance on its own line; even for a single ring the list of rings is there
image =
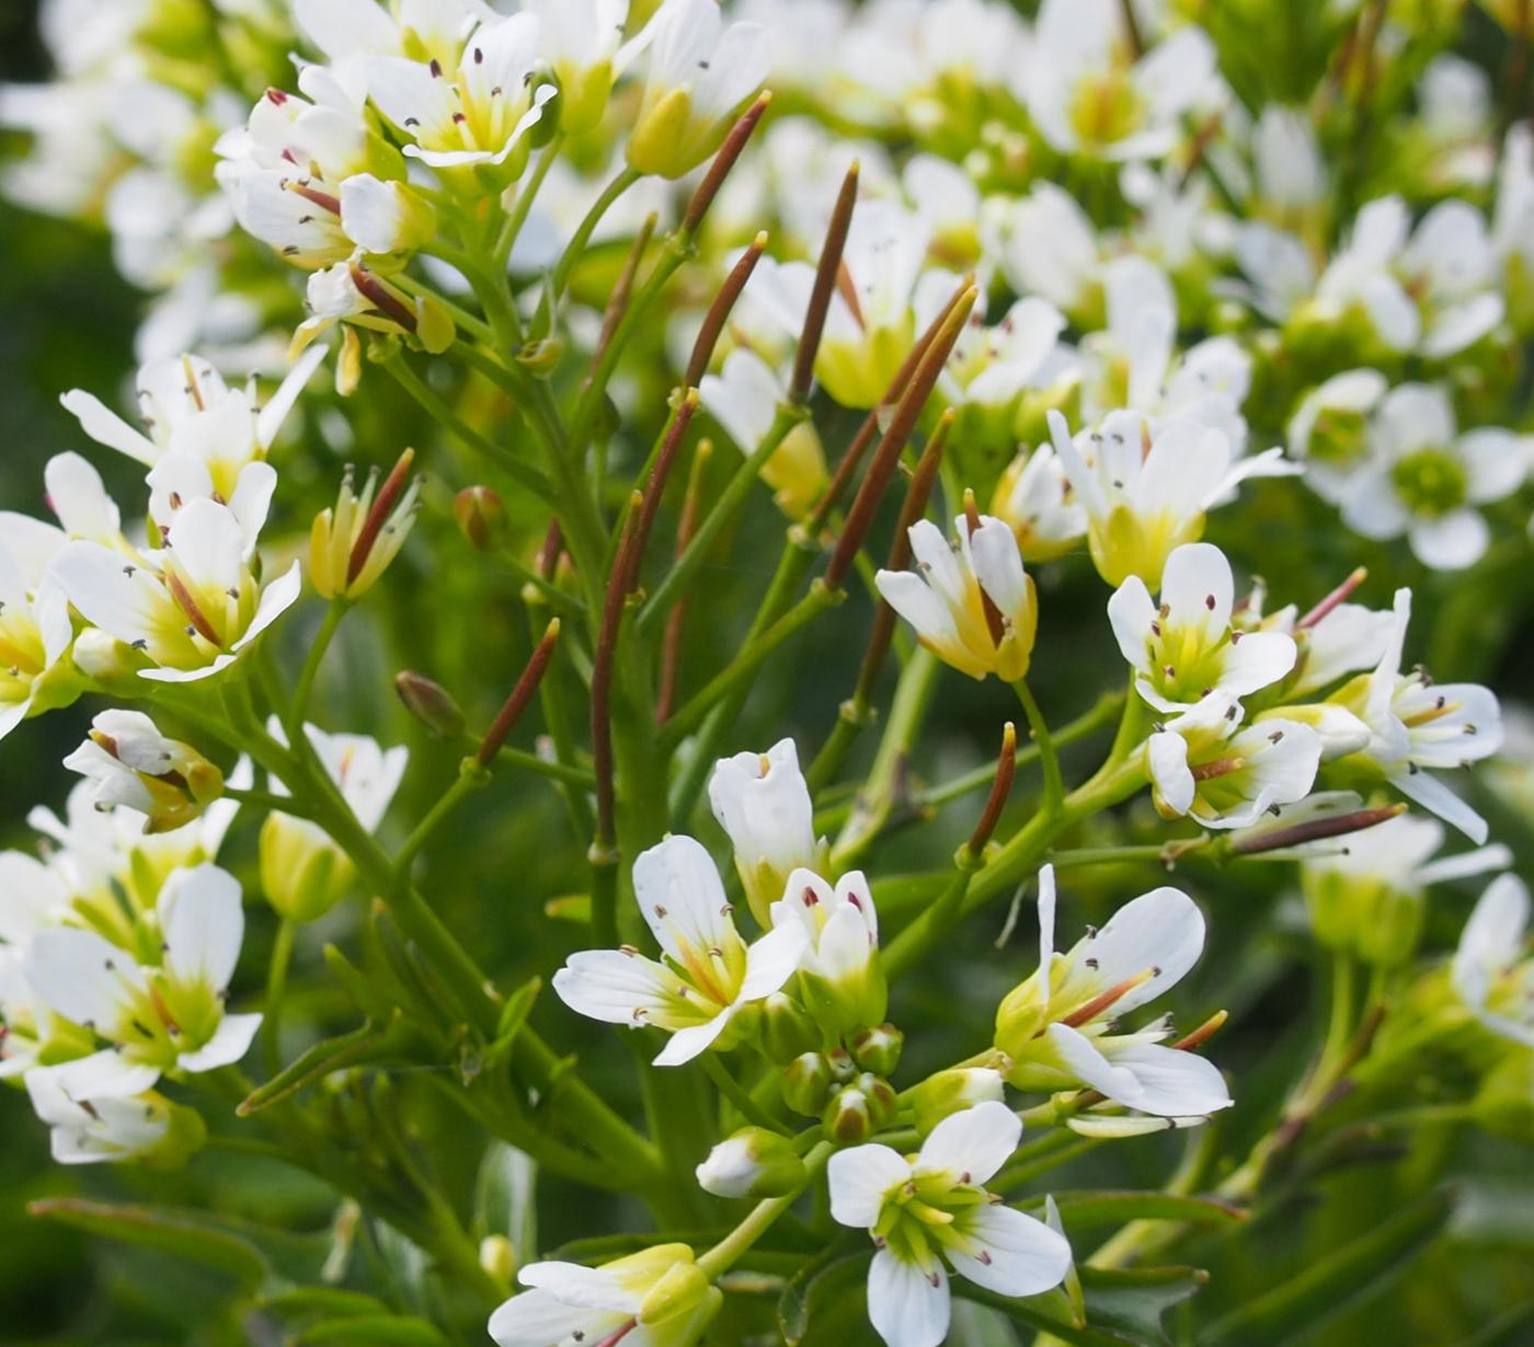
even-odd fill
[[[1167,556],[1160,604],[1137,575],[1114,592],[1108,621],[1146,702],[1180,711],[1210,693],[1244,697],[1295,667],[1293,637],[1236,628],[1233,605],[1230,562],[1209,542],[1187,542]]]

